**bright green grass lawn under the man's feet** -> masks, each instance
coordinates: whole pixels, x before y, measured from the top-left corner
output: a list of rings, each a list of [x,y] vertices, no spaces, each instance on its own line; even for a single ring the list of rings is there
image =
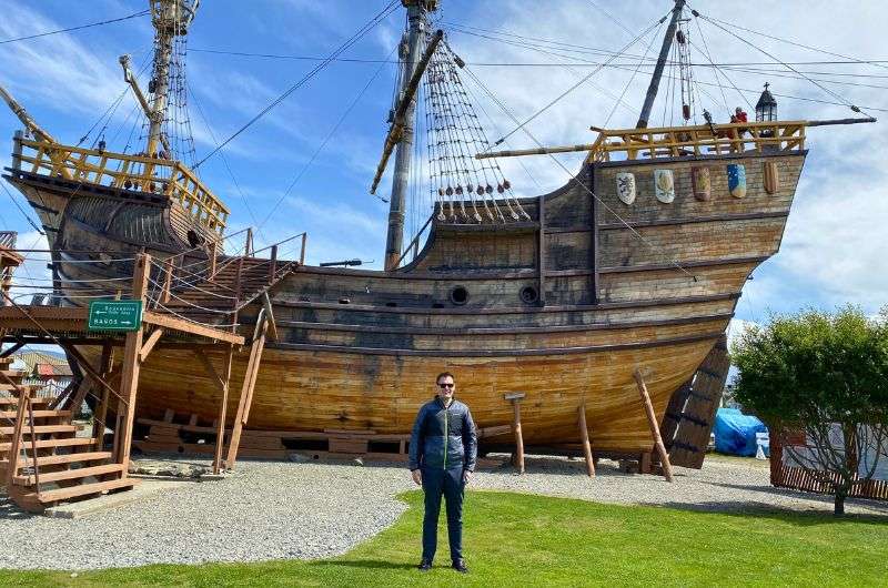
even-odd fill
[[[464,549],[471,574],[445,567],[450,561],[442,524],[436,567],[421,575],[414,566],[422,495],[413,491],[404,499],[410,509],[394,526],[334,559],[149,566],[77,578],[0,571],[0,585],[888,585],[885,518],[720,515],[487,491],[466,496]]]

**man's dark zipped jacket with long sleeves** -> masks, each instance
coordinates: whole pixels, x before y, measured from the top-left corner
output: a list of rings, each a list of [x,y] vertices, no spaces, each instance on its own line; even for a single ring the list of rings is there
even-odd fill
[[[475,470],[478,437],[468,407],[451,401],[448,407],[435,397],[420,408],[410,438],[410,468]]]

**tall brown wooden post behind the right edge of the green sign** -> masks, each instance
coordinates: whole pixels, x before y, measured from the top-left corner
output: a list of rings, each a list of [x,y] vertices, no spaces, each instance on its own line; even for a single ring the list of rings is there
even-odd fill
[[[141,300],[144,303],[145,291],[148,290],[148,272],[151,267],[151,256],[147,253],[139,254],[135,261],[135,275],[132,281],[132,298]],[[139,325],[138,331],[127,333],[127,343],[123,347],[123,375],[121,377],[120,393],[123,397],[121,405],[125,410],[124,416],[119,419],[120,427],[114,432],[118,437],[115,462],[123,466],[129,466],[130,449],[132,447],[132,426],[135,418],[135,396],[139,392],[139,372],[141,361],[139,352],[142,351],[142,335],[144,326]],[[123,467],[121,477],[127,477],[127,467]]]

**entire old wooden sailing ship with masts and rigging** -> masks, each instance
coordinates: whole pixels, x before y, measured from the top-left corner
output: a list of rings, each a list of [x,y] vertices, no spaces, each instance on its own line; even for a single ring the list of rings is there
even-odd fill
[[[312,443],[403,453],[435,375],[451,371],[483,448],[511,446],[516,420],[528,446],[569,449],[587,435],[597,456],[649,459],[653,428],[673,464],[699,467],[728,368],[726,328],[744,284],[779,249],[806,128],[859,119],[780,121],[766,88],[755,121],[690,124],[686,111],[682,125],[648,126],[666,58],[685,43],[677,0],[636,128],[492,153],[461,90],[464,63],[430,27],[436,1],[402,1],[398,99],[373,182],[394,155],[383,271],[306,265],[304,249],[278,258],[278,245],[254,251],[249,237],[243,254],[224,253],[229,209],[172,144],[195,1],[151,0],[149,92],[121,58],[147,121],[138,153],[60,143],[0,89],[24,125],[4,178],[47,232],[52,303],[128,297],[147,253],[149,308],[246,338],[251,353],[208,351],[210,372],[160,339],[140,366],[137,416],[155,425],[147,447],[224,428],[243,435],[248,455]],[[424,244],[421,231],[404,246],[420,92],[435,205]],[[515,196],[496,163],[566,151],[587,152],[582,168],[535,197]],[[104,366],[113,382],[119,353],[72,349],[75,366]],[[245,379],[249,394],[221,396],[213,373]]]

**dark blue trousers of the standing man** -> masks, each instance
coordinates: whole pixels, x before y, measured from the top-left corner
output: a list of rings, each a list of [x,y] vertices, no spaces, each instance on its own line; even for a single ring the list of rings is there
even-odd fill
[[[423,468],[425,491],[425,517],[423,518],[423,559],[432,561],[437,548],[437,518],[441,514],[441,496],[447,503],[447,538],[451,559],[463,557],[463,484],[462,466],[453,469]]]

